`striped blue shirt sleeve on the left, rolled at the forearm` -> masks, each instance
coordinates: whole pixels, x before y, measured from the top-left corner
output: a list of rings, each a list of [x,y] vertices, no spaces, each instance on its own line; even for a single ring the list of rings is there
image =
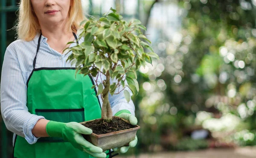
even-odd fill
[[[7,129],[24,137],[29,144],[35,144],[38,138],[32,134],[32,129],[44,117],[28,111],[26,82],[11,45],[7,47],[3,60],[0,94],[1,113]]]

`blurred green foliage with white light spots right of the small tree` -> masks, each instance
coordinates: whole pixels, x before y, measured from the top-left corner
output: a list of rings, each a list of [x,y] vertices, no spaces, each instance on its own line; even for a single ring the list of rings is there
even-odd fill
[[[229,133],[224,138],[229,142],[256,145],[255,132],[249,138],[235,137],[256,128],[256,2],[158,2],[162,7],[170,4],[178,6],[181,27],[171,37],[168,26],[158,27],[161,39],[153,45],[160,60],[141,70],[141,146],[182,146],[178,140],[194,126]],[[206,115],[210,117],[204,119]]]

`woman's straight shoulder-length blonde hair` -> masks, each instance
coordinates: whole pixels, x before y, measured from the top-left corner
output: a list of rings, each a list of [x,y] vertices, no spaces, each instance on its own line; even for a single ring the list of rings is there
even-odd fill
[[[85,19],[81,0],[70,0],[70,10],[68,14],[67,30],[76,32],[80,28],[80,23]],[[17,38],[30,41],[35,35],[41,32],[38,18],[32,9],[31,0],[21,0],[17,19]]]

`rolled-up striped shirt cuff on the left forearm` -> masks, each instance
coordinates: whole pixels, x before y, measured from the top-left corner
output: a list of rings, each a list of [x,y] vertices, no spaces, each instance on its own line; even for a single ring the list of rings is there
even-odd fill
[[[35,144],[37,140],[40,138],[35,137],[32,134],[32,129],[34,128],[35,124],[38,120],[44,118],[43,116],[32,115],[28,118],[23,124],[23,133],[25,135],[25,139],[29,144]]]

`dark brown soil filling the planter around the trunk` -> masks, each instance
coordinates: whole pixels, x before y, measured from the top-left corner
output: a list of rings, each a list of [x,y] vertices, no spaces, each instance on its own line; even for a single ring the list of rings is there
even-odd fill
[[[106,134],[110,132],[117,132],[124,129],[134,128],[136,126],[128,124],[123,121],[121,118],[113,117],[112,121],[107,123],[102,119],[98,119],[95,121],[87,122],[86,124],[82,124],[93,130],[93,133],[97,135]]]

